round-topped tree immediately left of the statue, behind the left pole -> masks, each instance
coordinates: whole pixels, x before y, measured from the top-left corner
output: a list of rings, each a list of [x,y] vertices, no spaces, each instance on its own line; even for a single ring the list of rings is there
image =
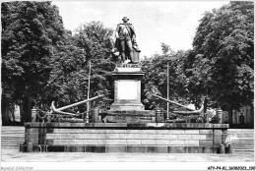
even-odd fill
[[[105,28],[102,23],[96,21],[82,25],[75,32],[76,45],[86,52],[87,62],[91,60],[93,66],[91,97],[100,92],[113,98],[111,72],[115,63],[111,52],[112,34],[111,28]]]

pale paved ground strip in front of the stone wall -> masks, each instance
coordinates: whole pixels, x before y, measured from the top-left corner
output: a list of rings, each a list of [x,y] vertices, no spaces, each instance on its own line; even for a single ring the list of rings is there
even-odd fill
[[[83,152],[19,152],[2,148],[2,161],[6,162],[253,162],[254,153],[83,153]]]

